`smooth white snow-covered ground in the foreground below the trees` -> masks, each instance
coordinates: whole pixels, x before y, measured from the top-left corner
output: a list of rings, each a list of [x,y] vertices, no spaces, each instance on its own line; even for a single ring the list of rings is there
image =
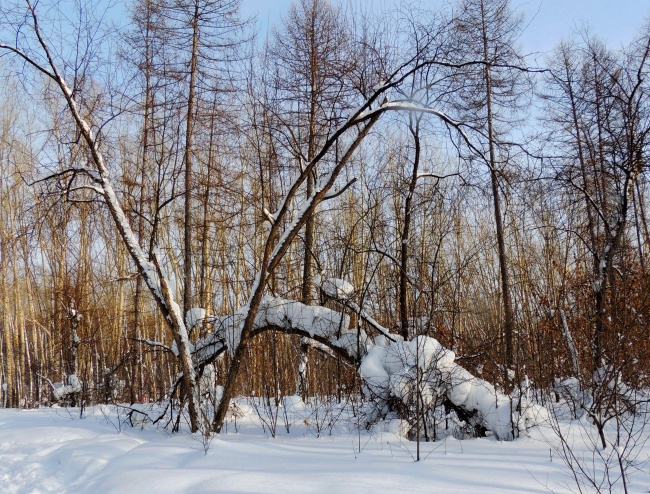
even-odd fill
[[[381,427],[359,434],[337,423],[316,437],[308,418],[294,414],[290,433],[280,419],[272,438],[242,409],[237,431],[231,423],[207,452],[199,434],[131,427],[114,407],[90,408],[83,419],[77,409],[0,409],[0,493],[577,492],[550,427],[513,442],[422,442],[416,463],[416,444]],[[629,487],[649,486],[646,465]]]

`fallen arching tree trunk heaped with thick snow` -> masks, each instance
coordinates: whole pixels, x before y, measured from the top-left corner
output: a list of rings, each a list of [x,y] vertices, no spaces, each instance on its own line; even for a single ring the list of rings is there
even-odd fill
[[[336,286],[334,281],[340,280],[328,280],[323,285]],[[241,345],[246,312],[244,308],[233,315],[205,318],[212,331],[191,348],[197,372],[225,352],[234,358]],[[360,319],[371,318],[365,315]],[[345,313],[266,295],[250,337],[266,331],[299,335],[355,366],[368,402],[368,423],[394,416],[412,430],[417,427],[414,408],[418,399],[425,407],[453,410],[474,435],[489,431],[502,440],[514,439],[521,430],[546,420],[543,407],[528,403],[517,406],[508,395],[458,365],[455,353],[435,338],[417,336],[404,341],[376,322],[365,325],[374,337],[363,328],[351,328]]]

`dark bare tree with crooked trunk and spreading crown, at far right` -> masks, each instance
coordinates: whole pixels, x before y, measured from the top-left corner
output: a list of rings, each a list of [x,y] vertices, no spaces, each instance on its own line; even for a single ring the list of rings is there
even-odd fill
[[[557,162],[556,178],[584,215],[579,238],[591,258],[591,374],[597,375],[611,365],[615,347],[606,336],[615,289],[623,281],[617,278],[634,269],[625,259],[637,184],[646,170],[650,37],[621,53],[590,39],[583,46],[564,43],[556,54],[547,99],[556,129],[553,142],[566,152]]]

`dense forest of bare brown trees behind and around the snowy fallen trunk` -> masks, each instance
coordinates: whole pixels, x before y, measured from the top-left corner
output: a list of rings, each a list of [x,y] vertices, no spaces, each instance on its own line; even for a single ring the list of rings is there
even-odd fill
[[[237,395],[371,399],[379,335],[511,397],[573,378],[596,422],[649,385],[650,30],[538,65],[508,0],[297,0],[264,37],[108,7],[0,6],[0,407],[218,432]]]

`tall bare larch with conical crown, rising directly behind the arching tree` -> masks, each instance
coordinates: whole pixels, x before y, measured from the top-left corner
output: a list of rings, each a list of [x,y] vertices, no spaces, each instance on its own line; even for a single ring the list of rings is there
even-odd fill
[[[301,0],[289,9],[275,31],[271,54],[277,63],[275,84],[285,125],[294,137],[289,143],[299,167],[316,156],[324,139],[341,122],[353,68],[351,39],[339,7],[329,0]],[[305,194],[314,191],[318,170],[306,180]],[[314,298],[315,218],[305,224],[301,299]]]

